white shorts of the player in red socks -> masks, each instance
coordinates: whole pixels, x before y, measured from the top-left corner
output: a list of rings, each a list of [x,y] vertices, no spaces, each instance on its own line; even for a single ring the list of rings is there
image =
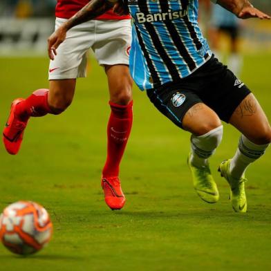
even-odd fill
[[[57,18],[55,29],[67,19]],[[50,61],[49,80],[86,77],[88,49],[100,65],[129,65],[131,20],[93,20],[68,30],[66,40]]]

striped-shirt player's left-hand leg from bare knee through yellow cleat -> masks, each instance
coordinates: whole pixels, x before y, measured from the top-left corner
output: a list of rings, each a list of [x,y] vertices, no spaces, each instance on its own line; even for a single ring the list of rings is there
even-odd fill
[[[187,163],[191,169],[194,189],[207,203],[216,203],[219,193],[209,168],[212,156],[223,136],[218,115],[203,103],[192,106],[183,118],[183,128],[191,132],[191,152]]]

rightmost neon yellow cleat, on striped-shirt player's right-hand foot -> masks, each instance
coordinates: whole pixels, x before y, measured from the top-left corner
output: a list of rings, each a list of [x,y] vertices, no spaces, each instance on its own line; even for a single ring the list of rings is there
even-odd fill
[[[240,180],[230,176],[230,159],[225,160],[219,165],[218,171],[230,185],[230,201],[235,212],[247,212],[247,198],[245,196],[245,176]]]

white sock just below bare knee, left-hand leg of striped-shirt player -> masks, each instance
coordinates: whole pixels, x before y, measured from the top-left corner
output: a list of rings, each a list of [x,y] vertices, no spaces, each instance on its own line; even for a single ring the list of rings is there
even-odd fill
[[[220,144],[223,135],[223,126],[205,133],[203,136],[191,135],[190,162],[195,167],[207,165],[208,158],[212,156],[216,147]]]

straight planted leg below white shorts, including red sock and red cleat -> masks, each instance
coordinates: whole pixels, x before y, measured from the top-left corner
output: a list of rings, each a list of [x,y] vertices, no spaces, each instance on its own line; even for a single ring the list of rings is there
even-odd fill
[[[119,179],[120,162],[133,122],[132,80],[127,65],[105,66],[109,82],[111,115],[107,125],[107,156],[102,170],[106,204],[121,209],[125,203]]]

